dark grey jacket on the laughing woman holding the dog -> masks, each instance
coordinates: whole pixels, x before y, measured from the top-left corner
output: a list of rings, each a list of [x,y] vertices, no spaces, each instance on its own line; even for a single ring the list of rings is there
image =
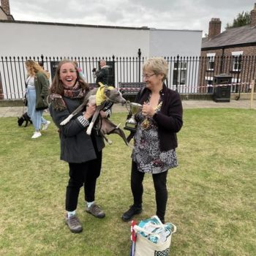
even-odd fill
[[[80,163],[87,162],[92,159],[96,159],[95,150],[101,151],[105,144],[103,138],[97,135],[97,132],[93,129],[91,135],[86,134],[86,128],[78,121],[78,116],[83,113],[80,112],[74,116],[69,123],[61,126],[63,121],[69,113],[72,113],[81,101],[79,99],[69,99],[63,97],[64,102],[68,109],[55,110],[50,104],[50,116],[53,118],[54,123],[59,127],[59,138],[61,140],[61,160],[66,162]],[[93,138],[92,138],[93,137]],[[97,148],[94,148],[92,139],[94,139]]]

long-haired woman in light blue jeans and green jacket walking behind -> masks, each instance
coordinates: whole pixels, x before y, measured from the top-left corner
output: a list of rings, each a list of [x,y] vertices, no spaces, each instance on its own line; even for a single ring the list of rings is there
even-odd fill
[[[47,97],[49,93],[49,80],[47,73],[35,61],[28,60],[25,62],[28,72],[26,78],[26,98],[28,100],[28,115],[34,126],[34,135],[32,139],[40,137],[42,130],[46,130],[50,124],[42,117],[43,110],[48,108]]]

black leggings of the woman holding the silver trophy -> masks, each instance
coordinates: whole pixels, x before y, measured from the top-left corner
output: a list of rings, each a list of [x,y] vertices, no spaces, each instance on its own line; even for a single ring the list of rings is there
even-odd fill
[[[165,219],[167,203],[167,172],[153,174],[154,189],[156,192],[157,216]],[[145,173],[138,171],[137,164],[132,161],[131,188],[135,206],[141,206],[143,196],[143,178]]]

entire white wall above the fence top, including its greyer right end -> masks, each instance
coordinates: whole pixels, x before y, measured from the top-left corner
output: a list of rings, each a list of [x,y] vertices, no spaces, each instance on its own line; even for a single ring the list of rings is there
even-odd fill
[[[0,56],[200,56],[202,40],[202,31],[29,22],[0,22],[0,34]]]

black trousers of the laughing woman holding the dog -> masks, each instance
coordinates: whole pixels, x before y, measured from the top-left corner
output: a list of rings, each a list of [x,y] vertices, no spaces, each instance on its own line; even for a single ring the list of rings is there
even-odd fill
[[[66,190],[66,210],[75,211],[78,206],[80,187],[84,188],[85,200],[95,199],[96,181],[102,167],[102,151],[97,152],[97,159],[82,163],[69,163],[69,183]]]

